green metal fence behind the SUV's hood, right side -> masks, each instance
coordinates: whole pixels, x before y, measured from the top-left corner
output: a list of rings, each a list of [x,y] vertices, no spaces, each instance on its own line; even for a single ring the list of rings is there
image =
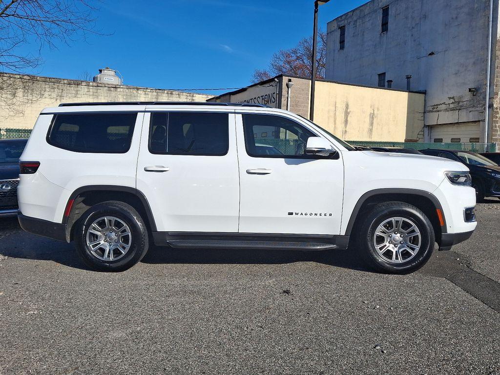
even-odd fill
[[[424,143],[424,142],[373,142],[365,140],[347,140],[349,144],[364,147],[401,147],[416,150],[427,148],[459,149],[473,152],[495,152],[496,143]]]

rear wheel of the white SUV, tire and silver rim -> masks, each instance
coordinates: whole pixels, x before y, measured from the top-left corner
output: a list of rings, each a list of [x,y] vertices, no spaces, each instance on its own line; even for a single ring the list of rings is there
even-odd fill
[[[92,269],[123,271],[147,252],[144,221],[129,204],[118,201],[96,204],[81,216],[76,225],[78,254]]]

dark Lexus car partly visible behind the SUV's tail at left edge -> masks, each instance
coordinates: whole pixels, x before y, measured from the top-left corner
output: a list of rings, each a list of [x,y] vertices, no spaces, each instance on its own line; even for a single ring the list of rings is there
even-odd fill
[[[0,140],[0,217],[17,215],[19,156],[27,139]]]

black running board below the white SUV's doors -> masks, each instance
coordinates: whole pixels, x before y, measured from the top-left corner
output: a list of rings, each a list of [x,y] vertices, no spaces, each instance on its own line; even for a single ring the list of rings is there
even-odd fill
[[[346,249],[349,236],[267,233],[153,232],[154,243],[174,248],[289,249],[319,251]]]

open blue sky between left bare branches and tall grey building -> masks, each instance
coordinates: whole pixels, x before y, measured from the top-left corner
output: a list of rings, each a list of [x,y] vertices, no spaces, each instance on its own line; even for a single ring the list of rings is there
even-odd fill
[[[322,5],[320,27],[364,2]],[[44,48],[43,64],[25,72],[78,79],[110,66],[129,85],[242,87],[274,51],[312,33],[313,0],[102,0],[99,6],[97,28],[110,35]],[[35,45],[24,48],[36,52]]]

